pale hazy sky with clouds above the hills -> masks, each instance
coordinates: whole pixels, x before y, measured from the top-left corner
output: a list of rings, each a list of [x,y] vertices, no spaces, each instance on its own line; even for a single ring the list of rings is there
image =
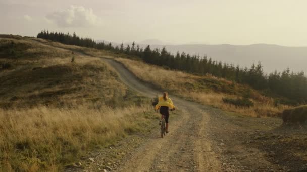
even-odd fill
[[[307,46],[305,0],[0,0],[0,34],[41,29],[94,39]]]

